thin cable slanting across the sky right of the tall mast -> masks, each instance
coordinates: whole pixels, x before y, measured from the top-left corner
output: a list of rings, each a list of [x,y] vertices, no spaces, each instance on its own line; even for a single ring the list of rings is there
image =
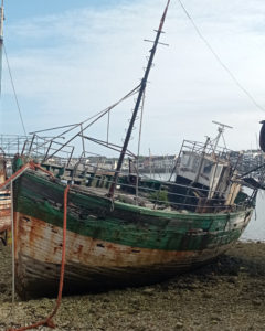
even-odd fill
[[[211,46],[211,44],[209,43],[209,41],[203,36],[203,34],[201,33],[200,29],[198,28],[198,25],[195,24],[194,20],[192,19],[192,17],[190,15],[190,13],[188,12],[188,10],[186,9],[184,4],[182,3],[181,0],[178,0],[181,8],[183,9],[186,15],[188,17],[188,19],[190,20],[191,24],[193,25],[193,28],[195,29],[198,35],[200,36],[200,39],[204,42],[204,44],[208,46],[208,49],[211,51],[211,53],[213,54],[213,56],[215,57],[215,60],[219,62],[219,64],[225,70],[225,72],[229,74],[229,76],[232,78],[232,81],[237,85],[237,87],[252,100],[252,103],[262,111],[265,111],[265,108],[262,107],[256,100],[255,98],[252,96],[252,94],[239,82],[239,79],[235,77],[235,75],[230,71],[230,68],[227,67],[227,65],[225,65],[223,63],[223,61],[221,60],[221,57],[218,55],[218,53],[213,50],[213,47]]]

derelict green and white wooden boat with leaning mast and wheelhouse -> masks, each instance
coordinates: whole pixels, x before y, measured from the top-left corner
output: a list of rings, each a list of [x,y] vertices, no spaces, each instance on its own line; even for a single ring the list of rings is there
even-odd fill
[[[183,150],[174,181],[120,174],[169,2],[115,173],[43,163],[55,178],[26,170],[14,183],[15,288],[23,298],[57,290],[66,182],[66,292],[148,284],[194,268],[229,249],[251,220],[255,189],[251,196],[242,192],[230,153],[210,140]]]

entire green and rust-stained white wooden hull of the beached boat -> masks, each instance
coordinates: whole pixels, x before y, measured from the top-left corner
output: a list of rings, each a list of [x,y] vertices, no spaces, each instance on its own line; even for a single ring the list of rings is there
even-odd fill
[[[25,172],[14,194],[15,282],[22,297],[57,289],[64,185]],[[225,252],[252,210],[181,214],[110,203],[87,192],[68,196],[65,289],[148,282],[204,264]]]

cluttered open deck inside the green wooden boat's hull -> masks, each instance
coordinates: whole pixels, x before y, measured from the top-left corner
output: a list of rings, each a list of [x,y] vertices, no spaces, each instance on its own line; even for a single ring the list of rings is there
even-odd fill
[[[51,167],[49,167],[51,170]],[[67,173],[68,172],[68,173]],[[59,170],[56,173],[62,181],[80,185],[81,188],[93,188],[94,191],[105,191],[113,183],[113,171],[72,171]],[[67,175],[68,174],[68,175]],[[144,179],[136,174],[120,174],[118,185],[116,188],[116,199],[120,199],[125,194],[129,195],[127,202],[134,204],[151,205],[153,209],[172,207],[174,210],[188,210],[200,213],[239,211],[253,205],[253,201],[243,192],[239,193],[235,203],[230,204],[229,193],[225,196],[224,192],[215,191],[214,195],[209,197],[209,189],[184,185],[169,181],[158,181],[152,179]],[[124,197],[123,197],[124,199]]]

